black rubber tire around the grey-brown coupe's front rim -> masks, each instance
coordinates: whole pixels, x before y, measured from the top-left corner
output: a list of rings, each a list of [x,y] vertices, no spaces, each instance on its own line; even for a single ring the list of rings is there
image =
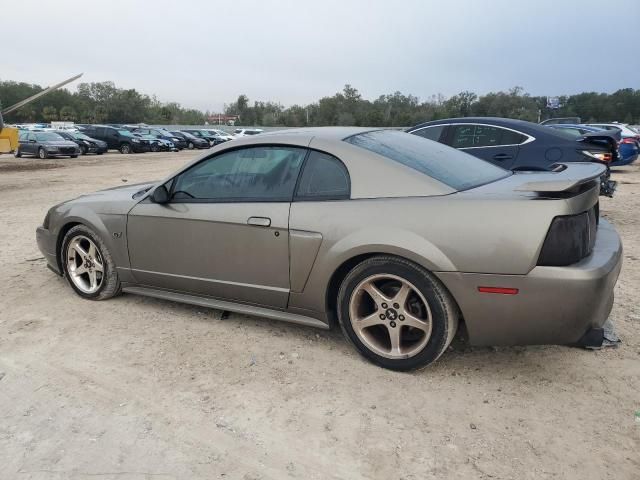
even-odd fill
[[[84,239],[84,240],[83,240]],[[73,272],[69,271],[70,268],[70,257],[69,245],[78,240],[81,245],[85,244],[85,241],[91,241],[96,247],[97,254],[94,257],[94,260],[98,259],[101,261],[102,265],[102,274],[100,275],[100,284],[99,287],[95,291],[87,291],[83,290],[80,286],[80,282],[74,280],[76,276],[74,275],[72,278]],[[72,249],[73,250],[73,249]],[[86,252],[90,252],[89,249],[84,248]],[[73,250],[75,252],[75,250]],[[102,241],[100,236],[95,233],[91,228],[86,227],[84,225],[76,225],[71,228],[64,239],[62,240],[62,247],[60,252],[58,252],[60,263],[62,265],[62,271],[64,273],[67,282],[71,285],[71,288],[81,297],[87,298],[90,300],[106,300],[108,298],[114,297],[120,293],[120,279],[118,278],[118,272],[116,270],[115,263],[113,261],[113,257],[109,252],[106,244]],[[95,262],[100,264],[100,262]],[[79,265],[83,266],[83,265]],[[95,264],[94,264],[95,267]],[[76,267],[77,268],[77,267]],[[97,272],[97,270],[96,270]],[[90,284],[89,274],[81,274],[87,278],[82,280],[86,280],[88,284]]]

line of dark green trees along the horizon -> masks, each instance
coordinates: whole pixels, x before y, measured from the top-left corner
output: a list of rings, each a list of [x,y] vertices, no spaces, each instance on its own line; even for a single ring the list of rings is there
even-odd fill
[[[0,102],[9,106],[39,91],[39,85],[0,81]],[[584,92],[559,97],[559,108],[547,107],[547,97],[532,96],[521,87],[477,95],[460,92],[446,98],[433,95],[420,100],[401,92],[375,100],[362,97],[351,85],[308,105],[285,107],[278,102],[254,101],[246,95],[226,104],[226,115],[238,115],[243,126],[355,125],[402,127],[448,117],[496,116],[537,122],[551,117],[580,117],[583,122],[640,123],[640,90],[614,93]],[[113,82],[81,83],[76,92],[61,89],[7,115],[7,122],[73,121],[76,123],[148,123],[204,125],[210,112],[161,102],[135,89],[117,88]]]

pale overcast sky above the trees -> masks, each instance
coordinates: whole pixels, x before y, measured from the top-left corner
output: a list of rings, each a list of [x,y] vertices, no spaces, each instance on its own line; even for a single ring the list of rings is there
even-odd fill
[[[241,93],[309,103],[345,83],[371,99],[640,88],[639,0],[20,0],[1,11],[2,80],[84,72],[203,110]]]

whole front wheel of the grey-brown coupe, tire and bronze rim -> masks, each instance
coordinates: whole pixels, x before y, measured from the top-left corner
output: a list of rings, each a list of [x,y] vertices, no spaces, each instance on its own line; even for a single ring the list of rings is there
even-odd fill
[[[106,300],[120,293],[111,253],[89,227],[76,225],[62,240],[60,263],[71,288],[81,297]]]

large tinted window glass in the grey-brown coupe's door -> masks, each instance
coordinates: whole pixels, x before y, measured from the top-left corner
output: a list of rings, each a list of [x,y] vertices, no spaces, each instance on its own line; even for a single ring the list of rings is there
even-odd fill
[[[290,202],[307,150],[284,146],[224,152],[193,166],[176,179],[178,202]]]

